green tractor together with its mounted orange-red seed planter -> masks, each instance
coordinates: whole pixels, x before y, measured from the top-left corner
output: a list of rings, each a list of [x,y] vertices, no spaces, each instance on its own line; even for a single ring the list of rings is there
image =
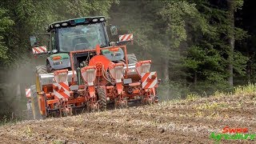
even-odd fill
[[[116,26],[109,31],[118,35]],[[30,37],[33,54],[49,54],[46,65],[36,66],[36,84],[26,89],[30,118],[63,116],[79,108],[106,110],[107,103],[126,106],[137,99],[158,101],[151,62],[126,54],[124,44],[133,41],[133,34],[110,42],[103,16],[54,22],[47,32]],[[39,36],[47,37],[48,46],[39,46]],[[144,83],[143,74],[150,77]]]

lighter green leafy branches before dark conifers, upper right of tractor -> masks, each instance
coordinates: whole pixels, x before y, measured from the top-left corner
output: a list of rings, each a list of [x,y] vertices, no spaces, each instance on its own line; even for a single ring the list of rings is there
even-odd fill
[[[166,33],[170,35],[172,39],[172,45],[179,47],[182,41],[186,41],[187,31],[186,25],[192,25],[194,29],[201,29],[203,33],[207,31],[206,19],[202,18],[196,8],[195,4],[189,2],[180,1],[166,1],[159,14],[162,15],[162,19],[167,23]]]

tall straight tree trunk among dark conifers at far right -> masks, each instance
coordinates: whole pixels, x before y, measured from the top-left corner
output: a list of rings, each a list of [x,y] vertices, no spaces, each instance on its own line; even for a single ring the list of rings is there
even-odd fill
[[[229,34],[229,44],[230,44],[230,55],[229,55],[229,66],[228,71],[230,73],[229,83],[233,86],[233,57],[234,57],[234,1],[227,0],[228,10],[229,10],[229,20],[230,20],[230,34]]]

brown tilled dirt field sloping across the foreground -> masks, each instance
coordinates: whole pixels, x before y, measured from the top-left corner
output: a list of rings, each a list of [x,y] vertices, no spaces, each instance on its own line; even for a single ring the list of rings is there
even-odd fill
[[[189,98],[154,106],[0,127],[0,143],[214,143],[225,126],[256,133],[256,96]],[[221,143],[256,143],[221,140]]]

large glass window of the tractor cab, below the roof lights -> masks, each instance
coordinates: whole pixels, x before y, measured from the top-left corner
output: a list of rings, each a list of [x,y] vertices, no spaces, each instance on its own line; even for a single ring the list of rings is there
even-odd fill
[[[102,23],[58,29],[58,45],[62,52],[90,50],[96,45],[106,46]]]

